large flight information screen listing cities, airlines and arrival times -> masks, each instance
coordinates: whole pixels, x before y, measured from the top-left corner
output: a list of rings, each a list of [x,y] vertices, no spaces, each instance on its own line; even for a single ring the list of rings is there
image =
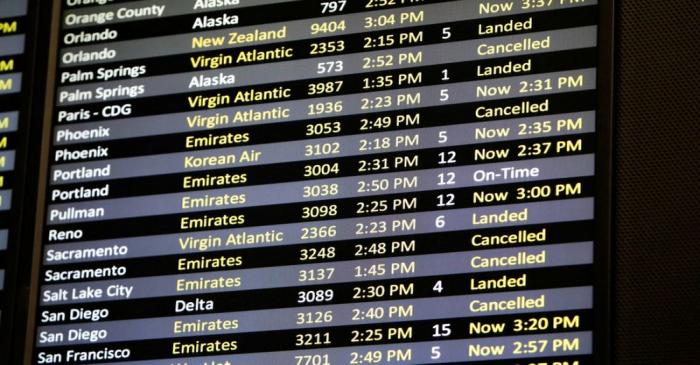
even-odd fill
[[[602,6],[56,1],[32,362],[604,358]]]

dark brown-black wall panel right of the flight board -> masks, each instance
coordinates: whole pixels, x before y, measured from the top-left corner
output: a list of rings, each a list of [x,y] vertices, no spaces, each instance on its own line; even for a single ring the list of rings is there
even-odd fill
[[[617,1],[615,364],[700,363],[700,2]]]

